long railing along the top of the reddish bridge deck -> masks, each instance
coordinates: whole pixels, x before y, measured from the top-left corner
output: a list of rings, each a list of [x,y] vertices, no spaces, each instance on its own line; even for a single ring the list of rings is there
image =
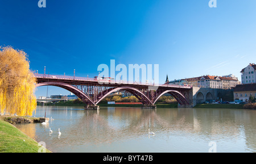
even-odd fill
[[[130,81],[122,81],[122,80],[102,80],[96,78],[89,77],[73,77],[68,75],[52,75],[52,74],[38,74],[34,73],[36,78],[46,78],[46,79],[68,79],[68,80],[76,80],[76,81],[89,81],[89,82],[99,82],[99,83],[120,83],[127,85],[144,85],[144,86],[166,86],[166,87],[177,87],[177,88],[187,88],[190,89],[191,86],[180,86],[180,85],[167,85],[167,84],[157,84],[157,83],[148,83],[148,82],[130,82]]]

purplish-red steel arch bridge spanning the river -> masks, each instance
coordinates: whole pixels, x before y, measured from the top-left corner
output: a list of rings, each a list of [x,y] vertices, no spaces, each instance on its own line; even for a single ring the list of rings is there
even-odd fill
[[[152,83],[124,82],[97,78],[71,77],[65,75],[35,74],[36,87],[57,86],[77,95],[88,106],[88,109],[97,109],[97,104],[109,94],[119,90],[128,91],[138,98],[144,108],[155,107],[160,96],[169,93],[177,100],[180,106],[189,107],[189,91],[191,86],[156,85]]]

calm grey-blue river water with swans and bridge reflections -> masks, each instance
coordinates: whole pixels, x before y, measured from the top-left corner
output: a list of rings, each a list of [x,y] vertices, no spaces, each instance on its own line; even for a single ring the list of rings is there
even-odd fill
[[[34,116],[43,117],[38,106]],[[17,128],[52,152],[256,152],[256,111],[199,108],[47,107],[47,125]],[[49,128],[53,133],[49,134]],[[61,135],[57,134],[60,128]],[[148,128],[155,135],[148,135]]]

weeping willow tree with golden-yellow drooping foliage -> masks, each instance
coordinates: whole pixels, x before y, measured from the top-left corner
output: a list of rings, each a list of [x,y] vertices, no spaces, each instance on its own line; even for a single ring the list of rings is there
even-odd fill
[[[0,47],[1,113],[31,116],[36,108],[35,83],[27,54],[12,47]]]

